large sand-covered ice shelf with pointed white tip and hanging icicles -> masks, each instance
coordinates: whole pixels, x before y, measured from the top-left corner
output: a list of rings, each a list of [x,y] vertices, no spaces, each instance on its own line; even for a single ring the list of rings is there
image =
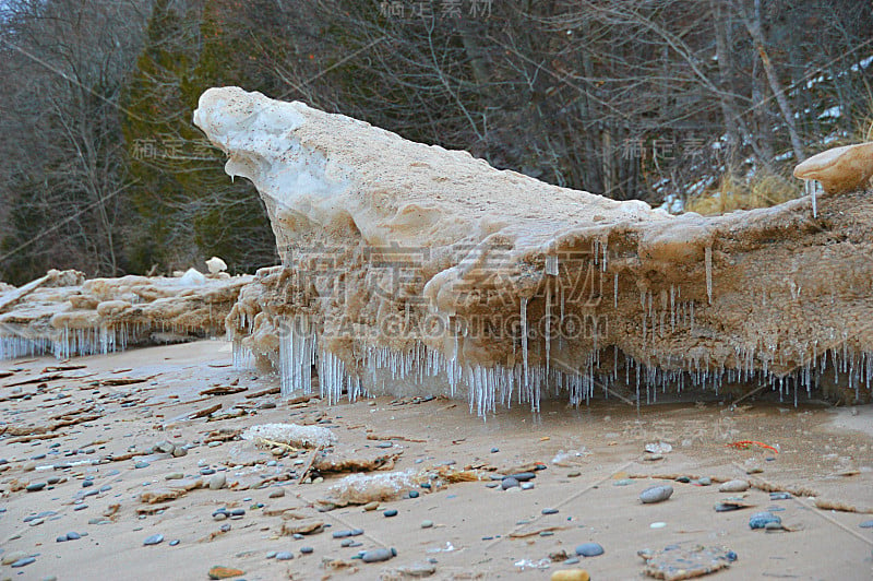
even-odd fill
[[[237,87],[194,122],[270,213],[283,265],[227,324],[286,394],[870,396],[869,192],[673,216]]]

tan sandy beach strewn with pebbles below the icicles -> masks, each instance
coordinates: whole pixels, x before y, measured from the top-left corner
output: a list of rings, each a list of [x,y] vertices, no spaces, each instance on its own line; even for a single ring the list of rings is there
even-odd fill
[[[620,402],[578,408],[546,402],[538,415],[518,406],[499,410],[483,422],[470,415],[466,402],[444,399],[380,398],[327,406],[318,400],[289,404],[277,393],[246,398],[277,387],[277,379],[235,369],[230,357],[226,343],[203,341],[67,364],[84,366],[79,369],[46,369],[59,365],[52,358],[3,361],[0,377],[12,374],[0,379],[0,430],[5,430],[0,459],[8,461],[0,465],[0,558],[24,552],[36,560],[20,568],[0,567],[0,579],[207,579],[215,565],[240,569],[240,578],[249,580],[411,579],[400,570],[415,564],[432,565],[431,579],[548,579],[552,571],[571,567],[585,568],[596,580],[643,579],[637,550],[675,543],[736,552],[737,561],[711,574],[714,579],[860,580],[873,574],[873,529],[859,526],[873,514],[820,510],[810,498],[873,508],[870,406],[835,412],[790,403],[752,402],[738,410],[692,403],[637,412]],[[52,375],[62,377],[11,386]],[[106,384],[119,378],[148,379]],[[247,391],[200,394],[215,386]],[[222,404],[217,414],[240,405],[237,410],[243,415],[189,419],[216,404]],[[479,469],[483,478],[536,462],[546,470],[536,472],[528,490],[503,491],[488,488],[488,481],[465,482],[421,489],[417,498],[384,501],[374,511],[350,506],[315,513],[307,507],[327,496],[343,475],[325,474],[323,482],[310,484],[271,479],[301,472],[309,452],[275,458],[249,441],[205,443],[214,430],[279,422],[330,427],[339,441],[337,451],[351,455],[392,442],[392,448],[379,450],[400,453],[393,470],[454,463],[453,469]],[[47,431],[38,434],[40,426]],[[15,436],[10,436],[11,428]],[[39,437],[13,442],[28,432]],[[738,440],[778,446],[779,453],[728,446]],[[189,444],[188,453],[118,459],[162,441]],[[651,454],[644,448],[653,442],[669,442],[672,451],[661,460],[647,460]],[[562,460],[555,458],[561,451],[574,452]],[[275,465],[267,465],[274,460]],[[134,467],[137,462],[148,465]],[[199,477],[203,467],[224,472],[227,487],[193,489],[153,505],[141,500],[143,491],[178,483],[165,476],[178,472]],[[746,474],[753,469],[762,472]],[[653,477],[635,477],[643,475]],[[743,495],[719,493],[717,484],[657,478],[679,475],[749,478],[803,494],[770,500],[753,487],[744,495],[754,508],[716,512],[717,501]],[[60,482],[38,491],[21,489],[52,477]],[[85,477],[93,486],[83,488]],[[259,488],[264,479],[270,482]],[[671,484],[674,494],[665,502],[642,505],[639,493],[653,484]],[[285,495],[271,498],[278,489]],[[92,490],[97,494],[82,497]],[[81,506],[86,508],[75,510]],[[243,508],[246,514],[215,521],[212,514],[222,507]],[[316,514],[330,526],[302,540],[282,535],[283,522],[292,521],[277,514],[292,508]],[[547,508],[558,512],[542,514]],[[778,509],[775,514],[791,532],[750,529],[752,513],[769,508]],[[386,518],[386,509],[398,514]],[[55,514],[24,522],[44,511]],[[422,529],[426,520],[434,526]],[[666,525],[653,529],[656,522]],[[222,532],[227,524],[229,530]],[[332,535],[351,529],[363,530],[352,537],[360,547],[343,547]],[[87,534],[56,541],[69,532]],[[525,533],[533,534],[519,536]],[[164,541],[144,546],[143,541],[155,534]],[[175,540],[178,545],[170,546]],[[572,555],[586,542],[601,544],[605,554],[573,566],[560,559],[550,562],[550,555]],[[303,546],[313,553],[301,555]],[[378,547],[394,547],[397,556],[374,564],[352,558],[361,549]],[[268,559],[270,552],[291,552],[294,559]]]

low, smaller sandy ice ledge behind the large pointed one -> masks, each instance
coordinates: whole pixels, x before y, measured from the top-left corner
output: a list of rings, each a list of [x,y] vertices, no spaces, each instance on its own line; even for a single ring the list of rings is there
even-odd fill
[[[123,276],[85,280],[50,271],[0,289],[0,359],[105,354],[134,345],[224,334],[224,320],[251,276]]]

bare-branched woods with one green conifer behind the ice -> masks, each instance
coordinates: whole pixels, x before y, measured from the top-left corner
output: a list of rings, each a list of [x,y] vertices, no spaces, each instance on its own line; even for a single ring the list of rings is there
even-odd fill
[[[211,86],[658,205],[800,194],[799,158],[864,138],[871,55],[870,0],[1,2],[0,280],[276,263],[191,122]]]

